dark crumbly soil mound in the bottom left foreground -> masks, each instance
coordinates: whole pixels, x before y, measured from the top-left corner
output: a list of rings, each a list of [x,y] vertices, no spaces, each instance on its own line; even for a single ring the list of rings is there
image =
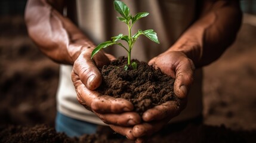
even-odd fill
[[[131,142],[124,136],[113,132],[105,126],[99,126],[97,133],[82,135],[79,138],[69,138],[65,133],[57,133],[54,128],[47,125],[29,126],[2,126],[0,127],[0,142]]]

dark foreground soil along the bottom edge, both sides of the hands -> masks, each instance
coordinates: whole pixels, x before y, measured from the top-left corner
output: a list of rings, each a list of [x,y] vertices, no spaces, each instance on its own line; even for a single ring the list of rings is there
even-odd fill
[[[64,133],[55,132],[46,125],[6,126],[0,128],[0,142],[72,142],[72,143],[131,143],[113,132],[110,128],[100,126],[97,133],[69,138]],[[150,136],[147,142],[255,142],[256,131],[233,131],[222,126],[208,125],[168,125],[161,132]]]

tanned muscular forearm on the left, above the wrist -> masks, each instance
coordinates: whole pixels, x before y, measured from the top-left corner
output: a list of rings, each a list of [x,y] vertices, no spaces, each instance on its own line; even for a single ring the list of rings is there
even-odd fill
[[[94,44],[47,1],[28,1],[25,18],[29,36],[48,57],[63,64],[73,64],[78,55]]]

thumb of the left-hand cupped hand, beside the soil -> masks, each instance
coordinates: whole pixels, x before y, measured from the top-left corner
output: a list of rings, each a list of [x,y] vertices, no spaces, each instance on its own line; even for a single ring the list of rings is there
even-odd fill
[[[90,56],[90,52],[82,52],[73,65],[73,71],[88,89],[94,90],[100,86],[102,77]]]

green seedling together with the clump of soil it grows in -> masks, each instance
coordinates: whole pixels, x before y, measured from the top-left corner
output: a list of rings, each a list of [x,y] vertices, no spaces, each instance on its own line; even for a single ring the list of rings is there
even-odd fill
[[[133,17],[129,8],[124,2],[114,1],[115,10],[121,15],[118,19],[128,27],[128,35],[119,34],[112,37],[111,41],[100,43],[94,51],[91,58],[97,54],[100,49],[112,45],[119,45],[128,52],[128,57],[119,57],[110,61],[109,65],[99,68],[103,77],[101,85],[96,89],[101,95],[109,95],[114,98],[124,98],[132,102],[134,111],[142,116],[144,111],[161,105],[166,101],[177,101],[179,99],[174,94],[174,81],[171,76],[162,73],[160,69],[155,70],[145,62],[131,59],[131,50],[137,41],[138,36],[144,35],[153,42],[159,43],[156,33],[152,30],[138,30],[133,36],[131,28],[140,18],[146,17],[149,13],[137,13]],[[119,41],[125,41],[128,46],[125,47]]]

